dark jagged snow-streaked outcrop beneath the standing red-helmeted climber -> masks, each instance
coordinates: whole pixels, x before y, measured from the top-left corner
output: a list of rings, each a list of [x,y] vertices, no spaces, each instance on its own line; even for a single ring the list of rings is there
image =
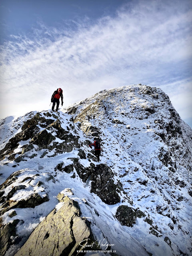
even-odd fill
[[[38,150],[45,149],[42,158],[53,149],[52,157],[58,153],[71,152],[74,146],[79,147],[79,136],[74,133],[72,134],[70,132],[72,129],[72,126],[70,128],[68,126],[65,129],[62,128],[59,116],[55,114],[50,114],[49,112],[37,113],[32,118],[24,121],[21,127],[22,131],[10,138],[4,148],[0,150],[0,160],[8,156],[8,160],[15,160],[16,163],[27,161],[29,158],[37,156],[37,147]],[[55,141],[56,137],[60,140],[60,143]],[[18,148],[22,140],[30,141],[29,144],[22,146],[20,152],[15,154],[14,150]]]

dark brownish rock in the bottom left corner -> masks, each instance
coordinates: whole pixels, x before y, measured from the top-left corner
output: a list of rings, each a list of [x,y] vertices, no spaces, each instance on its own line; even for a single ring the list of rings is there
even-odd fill
[[[2,222],[2,220],[0,220]],[[13,244],[11,236],[16,236],[16,225],[19,220],[13,220],[6,225],[0,223],[0,255],[4,256],[6,251]]]

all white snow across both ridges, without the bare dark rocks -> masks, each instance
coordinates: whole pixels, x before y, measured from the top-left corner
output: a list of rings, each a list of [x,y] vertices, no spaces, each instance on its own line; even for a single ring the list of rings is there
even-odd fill
[[[160,232],[157,231],[160,234],[159,237],[150,233],[149,228],[151,226],[144,221],[144,217],[137,218],[133,227],[120,224],[115,218],[118,206],[122,204],[131,206],[130,202],[125,200],[123,194],[120,195],[120,203],[107,205],[96,194],[90,193],[90,182],[82,182],[75,169],[75,178],[71,178],[72,173],[55,171],[55,167],[60,162],[64,162],[63,167],[72,164],[72,160],[67,158],[78,157],[78,148],[74,148],[72,152],[64,152],[63,154],[49,157],[55,152],[52,150],[44,158],[40,158],[45,150],[38,150],[38,146],[34,145],[37,156],[32,159],[27,158],[27,161],[19,162],[16,167],[12,167],[14,161],[10,161],[5,157],[1,161],[0,167],[0,173],[2,173],[2,176],[0,176],[1,183],[13,172],[18,170],[22,170],[22,172],[16,181],[5,189],[4,195],[10,192],[12,186],[22,184],[26,188],[17,190],[10,200],[26,199],[36,192],[41,197],[48,195],[49,201],[35,208],[9,210],[2,216],[3,223],[7,224],[14,219],[23,220],[17,225],[17,233],[26,239],[54,208],[59,210],[62,207],[63,203],[58,203],[56,198],[58,193],[61,193],[78,202],[82,217],[85,217],[90,222],[95,238],[101,242],[104,240],[104,242],[114,244],[112,250],[116,250],[117,254],[121,256],[148,255],[144,248],[154,256],[180,255],[179,250],[189,255],[192,205],[188,189],[191,184],[191,174],[186,168],[186,163],[190,162],[190,158],[188,156],[184,158],[183,156],[187,151],[186,148],[192,152],[192,145],[188,139],[190,136],[192,137],[192,131],[181,120],[182,137],[170,138],[169,144],[165,144],[157,132],[166,133],[167,131],[160,127],[158,120],[163,119],[164,122],[170,122],[168,108],[171,105],[162,98],[164,94],[160,89],[157,89],[159,98],[154,99],[146,94],[141,94],[140,91],[144,90],[144,86],[140,87],[141,89],[137,85],[104,90],[84,100],[81,105],[78,103],[72,105],[78,107],[78,111],[73,117],[78,116],[78,113],[89,105],[98,102],[96,107],[93,105],[90,107],[91,110],[94,110],[95,119],[83,122],[82,128],[92,125],[100,131],[100,137],[102,138],[101,163],[106,163],[114,172],[115,183],[118,181],[122,183],[124,191],[133,201],[132,207],[134,209],[139,208],[145,213],[146,217],[150,216],[153,224],[158,226],[160,230]],[[133,89],[134,91],[132,91]],[[164,105],[162,105],[162,102],[164,102]],[[106,106],[106,111],[104,111],[104,106]],[[156,107],[155,113],[147,115],[143,111],[146,108],[153,108],[153,106]],[[13,120],[13,117],[2,120],[1,127],[3,130],[0,136],[2,148],[11,137],[21,131],[23,123],[36,113],[28,113],[17,120]],[[61,111],[59,113],[62,128],[68,130],[70,127],[72,135],[76,136],[78,134],[80,136],[80,148],[86,152],[86,155],[90,153],[91,149],[88,147],[87,140],[92,141],[93,137],[84,134],[79,129],[80,123],[74,124],[70,120],[72,116]],[[92,112],[86,114],[91,116]],[[44,117],[47,118],[46,116]],[[56,120],[56,118],[53,119]],[[113,124],[112,120],[119,120],[120,123]],[[39,128],[43,130],[40,126]],[[56,136],[56,131],[47,131]],[[14,150],[14,153],[19,153],[22,150],[22,146],[28,144],[28,142],[29,140],[19,142],[19,146]],[[62,143],[62,140],[56,137],[53,142]],[[159,154],[160,152],[170,152],[174,144],[179,146],[180,151],[178,152],[182,156],[172,155],[170,157],[172,162],[176,162],[178,166],[176,172],[172,173],[168,169],[170,166],[162,164]],[[185,147],[183,147],[184,144]],[[88,159],[80,159],[79,161],[80,164],[87,168],[93,162],[92,160],[89,162]],[[94,162],[94,164],[97,165],[99,163]],[[42,166],[42,168],[39,168],[39,166]],[[38,175],[35,176],[36,174]],[[27,177],[31,178],[22,182]],[[184,181],[186,186],[181,188],[175,183],[175,180]],[[39,181],[43,182],[43,184],[38,187],[36,185]],[[180,196],[183,196],[184,200],[179,202],[177,199]],[[162,209],[161,213],[158,212],[158,208]],[[16,211],[17,215],[10,218],[8,215],[13,210]],[[177,220],[175,224],[172,220],[173,216]],[[173,230],[169,224],[174,226]],[[179,225],[182,228],[178,228]],[[164,242],[166,236],[170,238],[171,246]],[[103,250],[105,248],[106,246],[102,246]],[[14,255],[17,249],[17,246],[12,246],[9,251],[10,255]],[[86,253],[86,256],[88,255],[101,256],[105,254]]]

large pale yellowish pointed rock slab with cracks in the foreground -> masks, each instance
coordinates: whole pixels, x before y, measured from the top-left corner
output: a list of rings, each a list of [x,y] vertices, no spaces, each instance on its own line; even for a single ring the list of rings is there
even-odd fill
[[[68,196],[60,198],[64,205],[53,210],[32,232],[28,241],[15,256],[62,256],[80,255],[80,242],[94,242],[90,224],[80,217],[78,203]],[[81,243],[82,245],[85,242]]]

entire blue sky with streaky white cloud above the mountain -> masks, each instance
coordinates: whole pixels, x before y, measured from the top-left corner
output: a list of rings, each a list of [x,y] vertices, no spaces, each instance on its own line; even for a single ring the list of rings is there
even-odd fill
[[[191,25],[191,0],[2,0],[0,118],[141,83],[192,127]]]

